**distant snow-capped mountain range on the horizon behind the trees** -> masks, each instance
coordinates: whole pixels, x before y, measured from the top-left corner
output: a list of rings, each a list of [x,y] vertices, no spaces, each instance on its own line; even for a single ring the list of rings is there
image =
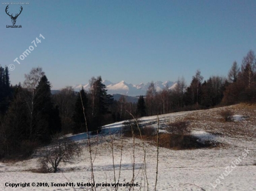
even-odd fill
[[[148,86],[150,83],[140,83],[138,85],[134,85],[131,83],[126,83],[124,81],[121,81],[119,83],[112,83],[108,80],[103,80],[103,84],[106,85],[108,89],[108,94],[122,94],[126,96],[140,96],[140,95],[146,95]],[[162,89],[168,87],[168,89],[174,89],[176,83],[171,81],[161,82],[157,81],[154,83],[155,89],[157,92],[161,91]],[[89,90],[90,84],[79,84],[73,86],[74,91],[79,91],[81,88],[84,88],[85,90]]]

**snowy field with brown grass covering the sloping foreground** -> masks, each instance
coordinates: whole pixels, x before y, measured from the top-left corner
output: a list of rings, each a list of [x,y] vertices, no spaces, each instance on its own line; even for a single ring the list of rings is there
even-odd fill
[[[221,142],[222,146],[216,148],[203,148],[195,150],[170,150],[159,148],[157,191],[256,191],[256,108],[245,108],[243,105],[228,107],[238,115],[249,118],[233,122],[224,122],[219,115],[224,108],[209,110],[179,112],[159,116],[161,131],[162,124],[171,120],[185,119],[191,122],[192,135],[198,141],[207,140]],[[157,127],[156,116],[141,118],[144,125]],[[123,138],[123,152],[121,171],[122,123],[105,126],[99,138],[92,137],[92,153],[94,160],[94,179],[98,186],[96,191],[115,190],[114,168],[111,138],[114,142],[114,163],[116,182],[131,183],[133,176],[133,139]],[[112,136],[107,135],[111,131]],[[83,147],[83,152],[73,164],[61,166],[58,173],[36,173],[38,169],[38,156],[17,163],[0,163],[0,191],[83,191],[90,190],[87,186],[78,186],[77,183],[92,183],[90,155],[88,152],[87,135],[78,134],[70,136]],[[244,150],[247,149],[247,150]],[[157,148],[145,142],[146,174],[148,190],[155,190],[156,156]],[[95,155],[96,153],[96,155]],[[135,186],[132,190],[147,190],[144,185],[146,178],[143,176],[141,166],[144,161],[144,152],[141,140],[135,140]],[[145,168],[144,168],[145,169]],[[225,172],[226,171],[226,172]],[[227,173],[228,172],[228,173]],[[73,186],[54,187],[51,183],[73,183]],[[10,187],[13,183],[30,183],[30,187]],[[47,183],[49,187],[33,187],[32,183]],[[128,191],[128,186],[118,187],[120,191]]]

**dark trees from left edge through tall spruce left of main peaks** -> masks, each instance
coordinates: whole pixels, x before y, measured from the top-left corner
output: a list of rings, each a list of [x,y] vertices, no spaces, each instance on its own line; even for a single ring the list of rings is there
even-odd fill
[[[51,94],[42,68],[25,74],[23,85],[10,86],[8,68],[0,67],[0,158],[26,157],[37,146],[48,144],[56,133],[96,132],[113,122],[113,96],[101,76],[92,77],[90,91],[75,93],[67,87]]]

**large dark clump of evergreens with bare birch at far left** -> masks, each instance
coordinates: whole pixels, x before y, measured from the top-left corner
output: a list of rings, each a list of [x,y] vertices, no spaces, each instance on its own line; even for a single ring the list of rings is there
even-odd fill
[[[61,131],[59,110],[52,102],[51,86],[41,68],[25,75],[21,84],[11,89],[10,104],[1,115],[0,156],[30,154],[34,147],[48,143]]]

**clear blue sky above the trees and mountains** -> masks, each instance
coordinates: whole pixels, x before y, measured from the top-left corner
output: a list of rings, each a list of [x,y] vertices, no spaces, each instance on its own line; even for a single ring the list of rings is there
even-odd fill
[[[204,79],[226,76],[234,60],[241,64],[250,49],[256,51],[256,0],[21,2],[29,2],[15,24],[22,28],[7,28],[7,5],[0,5],[0,65],[15,65],[12,84],[37,66],[53,89],[99,75],[134,84],[184,76],[189,84],[198,69]],[[9,5],[10,13],[19,10]],[[36,38],[37,47],[31,44]]]

